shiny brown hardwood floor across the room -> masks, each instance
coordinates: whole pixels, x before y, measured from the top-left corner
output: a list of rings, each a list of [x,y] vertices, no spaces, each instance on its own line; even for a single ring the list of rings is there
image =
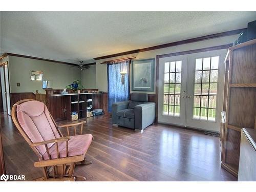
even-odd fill
[[[112,126],[108,116],[86,120],[83,133],[94,136],[86,157],[93,163],[77,165],[75,175],[88,181],[237,181],[220,166],[219,137],[163,124],[141,134]],[[25,175],[26,180],[42,176],[11,117],[2,113],[1,123],[7,174]]]

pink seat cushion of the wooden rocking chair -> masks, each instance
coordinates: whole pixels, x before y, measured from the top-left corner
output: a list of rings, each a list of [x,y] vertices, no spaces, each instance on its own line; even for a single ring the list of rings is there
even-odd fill
[[[91,134],[71,136],[68,142],[68,157],[86,154],[92,139],[93,136]],[[58,151],[60,158],[66,157],[66,141],[58,142]],[[49,148],[49,154],[51,159],[57,159],[55,144]],[[47,153],[43,157],[45,160],[49,159]]]

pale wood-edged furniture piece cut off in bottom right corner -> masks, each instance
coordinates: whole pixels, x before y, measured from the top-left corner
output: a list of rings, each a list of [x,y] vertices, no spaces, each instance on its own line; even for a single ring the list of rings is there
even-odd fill
[[[256,130],[242,129],[238,181],[256,181]]]

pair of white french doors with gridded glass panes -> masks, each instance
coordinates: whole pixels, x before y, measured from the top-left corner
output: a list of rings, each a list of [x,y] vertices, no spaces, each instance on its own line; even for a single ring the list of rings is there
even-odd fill
[[[159,59],[158,122],[220,131],[226,52]]]

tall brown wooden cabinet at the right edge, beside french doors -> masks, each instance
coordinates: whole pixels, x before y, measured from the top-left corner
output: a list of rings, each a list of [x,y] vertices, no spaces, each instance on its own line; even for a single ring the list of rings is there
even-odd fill
[[[238,176],[241,130],[256,128],[256,39],[229,48],[221,166]],[[224,94],[225,95],[225,94]]]

